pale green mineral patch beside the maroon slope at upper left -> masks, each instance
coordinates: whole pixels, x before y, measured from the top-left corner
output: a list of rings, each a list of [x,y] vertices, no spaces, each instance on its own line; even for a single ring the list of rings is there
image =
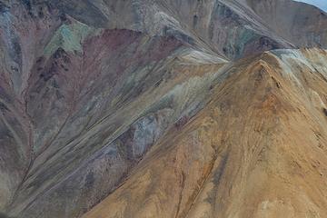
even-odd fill
[[[61,25],[49,44],[45,46],[45,55],[54,54],[59,47],[66,52],[82,52],[84,39],[94,32],[96,29],[78,21],[74,21],[70,25]]]

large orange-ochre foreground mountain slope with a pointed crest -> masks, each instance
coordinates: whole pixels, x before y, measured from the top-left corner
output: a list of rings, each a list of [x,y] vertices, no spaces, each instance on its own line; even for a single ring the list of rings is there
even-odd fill
[[[84,217],[325,217],[326,54],[235,64],[210,104]]]

